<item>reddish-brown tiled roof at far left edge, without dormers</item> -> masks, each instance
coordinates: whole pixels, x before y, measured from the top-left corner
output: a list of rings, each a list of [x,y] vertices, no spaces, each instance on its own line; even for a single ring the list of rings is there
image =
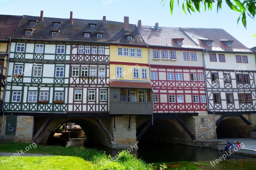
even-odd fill
[[[0,40],[8,40],[12,36],[21,18],[16,15],[0,15]]]

